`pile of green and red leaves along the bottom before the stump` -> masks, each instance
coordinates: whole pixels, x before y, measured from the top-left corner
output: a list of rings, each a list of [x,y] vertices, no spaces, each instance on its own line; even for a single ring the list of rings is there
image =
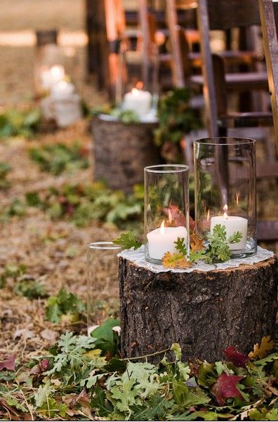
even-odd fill
[[[148,356],[141,362],[124,360],[113,329],[117,324],[108,319],[92,336],[62,334],[48,355],[44,352],[39,374],[34,370],[38,357],[19,364],[15,377],[0,385],[1,400],[20,420],[29,409],[35,420],[277,420],[277,353],[244,367],[199,360],[187,364],[175,343],[171,360],[166,355],[158,364],[148,362]],[[234,348],[232,353],[238,354]],[[32,371],[26,372],[26,366]]]

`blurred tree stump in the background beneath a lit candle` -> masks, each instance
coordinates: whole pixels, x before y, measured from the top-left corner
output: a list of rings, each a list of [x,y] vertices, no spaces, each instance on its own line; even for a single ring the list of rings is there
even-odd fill
[[[131,192],[133,185],[143,182],[145,166],[160,164],[159,148],[153,133],[157,124],[106,121],[93,119],[93,151],[95,178],[103,178],[113,189]]]

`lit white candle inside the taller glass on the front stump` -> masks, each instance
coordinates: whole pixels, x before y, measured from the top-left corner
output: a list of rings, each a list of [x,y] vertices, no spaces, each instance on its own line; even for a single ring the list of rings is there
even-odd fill
[[[229,243],[230,251],[238,251],[246,248],[247,242],[247,218],[238,217],[238,216],[228,216],[227,215],[227,205],[224,206],[223,216],[211,217],[211,234],[213,234],[213,228],[215,225],[225,225],[225,230],[227,233],[226,238],[232,236],[234,232],[241,232],[241,240],[238,243]]]

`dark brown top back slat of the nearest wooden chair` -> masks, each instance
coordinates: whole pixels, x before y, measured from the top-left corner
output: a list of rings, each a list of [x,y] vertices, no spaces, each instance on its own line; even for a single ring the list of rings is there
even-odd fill
[[[211,29],[230,29],[260,25],[258,1],[208,0]]]

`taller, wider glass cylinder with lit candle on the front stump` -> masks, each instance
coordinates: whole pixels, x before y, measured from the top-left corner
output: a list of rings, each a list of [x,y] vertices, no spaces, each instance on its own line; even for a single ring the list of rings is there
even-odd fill
[[[224,225],[231,258],[257,251],[256,144],[247,138],[204,138],[194,141],[195,227],[205,239],[215,225]]]

